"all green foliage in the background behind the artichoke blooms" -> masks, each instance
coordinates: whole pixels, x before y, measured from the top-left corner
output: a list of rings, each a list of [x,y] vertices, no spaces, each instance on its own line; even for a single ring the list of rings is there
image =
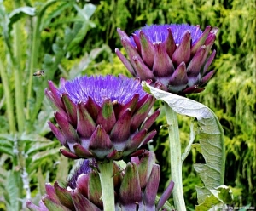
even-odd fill
[[[47,80],[58,84],[60,77],[82,74],[130,76],[114,54],[115,48],[121,48],[116,28],[131,34],[153,23],[189,23],[220,29],[213,46],[217,56],[211,67],[218,70],[217,74],[204,92],[188,97],[210,107],[224,127],[227,157],[224,184],[232,187],[234,205],[256,206],[253,189],[256,184],[256,10],[253,0],[93,1],[96,7],[86,1],[47,3],[49,7],[44,11],[43,0],[0,1],[0,69],[7,75],[4,77],[1,71],[0,210],[20,210],[26,197],[37,200],[44,194],[46,181],[65,180],[64,175],[73,167],[73,162],[60,157],[60,145],[47,127],[53,115],[44,99]],[[26,14],[15,10],[21,6],[35,11]],[[40,11],[44,14],[38,23]],[[33,37],[37,26],[38,34]],[[17,39],[20,42],[17,43]],[[32,77],[32,72],[39,69],[44,69],[46,76]],[[21,90],[17,82],[21,83]],[[8,83],[9,88],[5,88],[4,83]],[[8,93],[14,124],[9,122]],[[18,115],[19,109],[23,115]],[[180,117],[183,147],[189,141],[189,121],[189,117]],[[165,124],[165,117],[160,116],[154,125],[159,133],[149,147],[154,148],[162,178],[167,182],[170,175],[169,163],[166,163],[167,131],[160,127]],[[196,149],[192,149],[183,165],[188,210],[195,209],[195,185],[201,185],[192,165],[202,161]],[[66,172],[61,172],[65,169]],[[20,186],[20,190],[16,186]],[[160,186],[161,190],[164,186],[164,183]],[[16,197],[21,200],[14,200]]]

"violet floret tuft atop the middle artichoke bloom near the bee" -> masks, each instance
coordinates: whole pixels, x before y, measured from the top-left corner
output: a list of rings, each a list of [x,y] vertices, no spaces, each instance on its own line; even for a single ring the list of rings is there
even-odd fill
[[[135,82],[128,77],[113,77],[112,75],[77,77],[59,88],[58,94],[63,93],[67,93],[75,104],[86,102],[91,98],[98,106],[102,106],[107,99],[125,105],[134,97],[134,94],[139,94],[139,100],[147,94],[139,81]]]

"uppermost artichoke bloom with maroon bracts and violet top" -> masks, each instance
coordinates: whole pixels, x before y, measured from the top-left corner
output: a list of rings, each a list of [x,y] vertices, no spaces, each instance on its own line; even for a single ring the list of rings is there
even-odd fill
[[[175,94],[199,93],[215,71],[207,71],[216,54],[213,50],[218,28],[207,26],[144,26],[128,37],[117,30],[129,60],[116,48],[116,54],[132,76]]]

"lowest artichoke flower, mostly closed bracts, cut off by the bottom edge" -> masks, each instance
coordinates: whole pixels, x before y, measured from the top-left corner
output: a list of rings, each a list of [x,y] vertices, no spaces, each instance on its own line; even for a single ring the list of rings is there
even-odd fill
[[[46,194],[39,202],[39,206],[27,201],[26,207],[32,211],[103,210],[99,174],[95,163],[95,168],[91,168],[90,165],[89,159],[84,160],[65,185],[58,182],[54,185],[46,184]],[[155,205],[160,183],[160,166],[155,164],[154,153],[149,151],[145,151],[142,157],[132,157],[125,169],[114,163],[113,181],[117,211],[159,210],[170,197],[174,185],[171,181]]]

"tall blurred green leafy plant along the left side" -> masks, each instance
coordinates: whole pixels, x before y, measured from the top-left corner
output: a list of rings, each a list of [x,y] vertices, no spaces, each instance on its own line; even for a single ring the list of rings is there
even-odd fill
[[[37,180],[37,177],[44,179],[46,174],[53,174],[50,175],[53,178],[59,175],[55,168],[49,168],[55,166],[54,163],[60,160],[60,155],[59,146],[52,141],[52,135],[48,135],[49,128],[46,127],[49,118],[53,116],[49,103],[44,98],[46,77],[55,77],[61,61],[70,52],[74,52],[73,48],[95,26],[90,21],[95,6],[79,5],[75,1],[50,0],[38,3],[37,7],[23,7],[21,1],[15,1],[13,9],[7,11],[4,5],[1,1],[0,43],[3,51],[0,57],[0,73],[5,97],[3,100],[6,103],[3,123],[9,127],[1,128],[3,185],[0,188],[4,207],[7,210],[20,210],[22,202],[32,197],[31,190],[39,191],[43,180]],[[70,8],[73,10],[73,19],[65,19],[63,25],[56,25],[58,27],[53,29],[55,18],[64,16],[63,13]],[[56,33],[65,25],[67,27],[64,37],[55,37],[52,47],[50,45],[50,48],[44,48],[48,39],[44,31],[52,29]],[[46,77],[34,77],[33,73],[41,68],[44,69]],[[65,177],[65,174],[62,176]],[[48,180],[52,180],[50,177]]]

